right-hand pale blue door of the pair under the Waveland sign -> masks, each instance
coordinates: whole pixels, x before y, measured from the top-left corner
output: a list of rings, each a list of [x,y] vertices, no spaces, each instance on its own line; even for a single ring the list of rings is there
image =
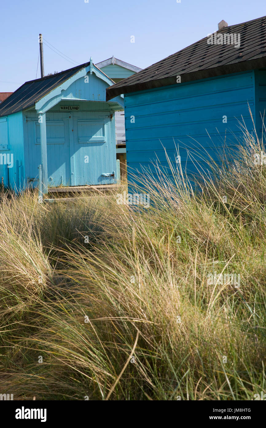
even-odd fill
[[[113,184],[115,150],[111,143],[110,112],[73,113],[73,152],[70,168],[75,186]]]

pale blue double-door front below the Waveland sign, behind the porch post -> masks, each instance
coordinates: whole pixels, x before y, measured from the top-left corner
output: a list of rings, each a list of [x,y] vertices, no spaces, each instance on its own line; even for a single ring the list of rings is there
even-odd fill
[[[32,117],[30,117],[32,116]],[[29,176],[36,177],[41,163],[41,124],[28,113],[26,128],[29,144]],[[114,184],[111,121],[108,111],[47,112],[48,187]],[[36,162],[37,159],[37,162]]]

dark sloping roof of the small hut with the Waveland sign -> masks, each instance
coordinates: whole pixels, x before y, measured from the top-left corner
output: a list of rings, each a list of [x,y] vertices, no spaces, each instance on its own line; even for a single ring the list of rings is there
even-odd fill
[[[90,62],[85,62],[85,64],[77,65],[76,67],[69,68],[60,73],[24,83],[0,104],[0,116],[17,113],[26,108],[33,107],[37,101],[53,91],[53,89],[76,74],[79,70],[88,67],[88,65],[90,65]]]

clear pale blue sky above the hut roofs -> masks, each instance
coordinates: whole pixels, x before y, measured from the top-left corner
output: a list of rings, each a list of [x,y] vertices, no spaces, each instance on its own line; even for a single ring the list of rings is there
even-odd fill
[[[145,68],[213,33],[222,19],[233,25],[266,15],[266,0],[1,0],[0,14],[0,92],[9,92],[35,79],[39,33],[76,61],[44,45],[45,74],[113,54]]]

